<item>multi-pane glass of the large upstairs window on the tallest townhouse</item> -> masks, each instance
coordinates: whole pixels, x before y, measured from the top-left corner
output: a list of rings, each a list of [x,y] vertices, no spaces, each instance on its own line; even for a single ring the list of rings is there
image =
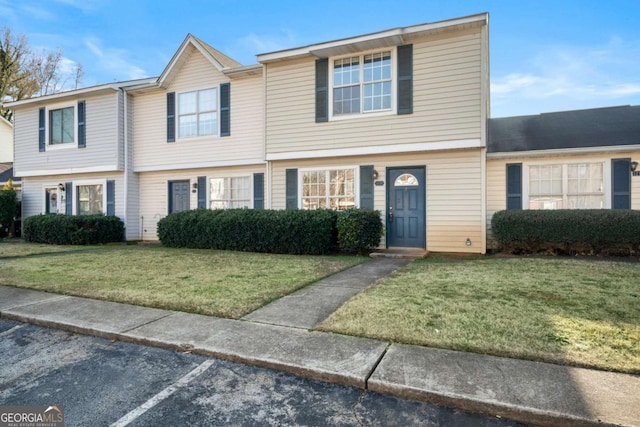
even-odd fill
[[[393,110],[393,51],[331,61],[331,111],[334,117]]]

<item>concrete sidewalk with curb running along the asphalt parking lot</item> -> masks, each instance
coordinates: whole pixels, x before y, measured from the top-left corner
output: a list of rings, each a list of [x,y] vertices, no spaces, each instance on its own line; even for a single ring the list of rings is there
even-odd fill
[[[640,426],[640,377],[0,286],[0,317],[525,423]]]

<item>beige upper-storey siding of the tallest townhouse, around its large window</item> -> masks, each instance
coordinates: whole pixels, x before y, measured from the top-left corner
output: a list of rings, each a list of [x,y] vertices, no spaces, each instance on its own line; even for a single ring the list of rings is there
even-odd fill
[[[267,154],[480,140],[481,62],[480,29],[414,40],[413,114],[328,123],[315,123],[313,58],[267,64]]]

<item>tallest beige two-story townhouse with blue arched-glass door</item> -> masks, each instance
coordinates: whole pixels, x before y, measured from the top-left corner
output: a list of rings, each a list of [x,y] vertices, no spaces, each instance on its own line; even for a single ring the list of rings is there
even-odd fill
[[[274,209],[380,210],[382,245],[484,253],[488,15],[258,55]]]

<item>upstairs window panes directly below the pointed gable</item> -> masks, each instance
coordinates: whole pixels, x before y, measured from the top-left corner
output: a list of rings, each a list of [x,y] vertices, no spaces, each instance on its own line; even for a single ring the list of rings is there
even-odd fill
[[[178,136],[191,138],[218,134],[216,88],[178,94]]]

